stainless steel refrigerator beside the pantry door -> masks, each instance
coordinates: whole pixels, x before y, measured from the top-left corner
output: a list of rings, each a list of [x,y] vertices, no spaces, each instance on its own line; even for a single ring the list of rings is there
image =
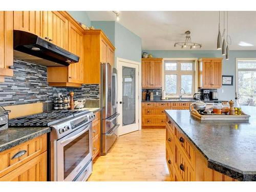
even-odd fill
[[[117,70],[110,63],[100,63],[101,155],[106,155],[118,135]]]

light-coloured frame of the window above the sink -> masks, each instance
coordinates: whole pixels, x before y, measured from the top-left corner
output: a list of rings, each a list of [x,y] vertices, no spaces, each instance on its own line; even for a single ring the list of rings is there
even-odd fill
[[[165,62],[177,62],[177,71],[165,71]],[[184,71],[181,70],[181,64],[182,62],[193,62],[193,69],[192,71]],[[182,94],[183,97],[186,98],[193,98],[194,93],[197,91],[198,87],[198,58],[163,58],[163,81],[162,81],[162,90],[165,90],[165,75],[166,74],[177,74],[177,94],[167,94],[167,98],[177,98],[179,97],[180,93],[180,87],[181,87],[181,75],[192,75],[192,93],[191,94]]]

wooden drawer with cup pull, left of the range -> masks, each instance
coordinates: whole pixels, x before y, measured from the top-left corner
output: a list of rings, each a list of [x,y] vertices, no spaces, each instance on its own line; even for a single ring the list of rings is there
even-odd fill
[[[0,153],[0,178],[47,150],[47,134]]]

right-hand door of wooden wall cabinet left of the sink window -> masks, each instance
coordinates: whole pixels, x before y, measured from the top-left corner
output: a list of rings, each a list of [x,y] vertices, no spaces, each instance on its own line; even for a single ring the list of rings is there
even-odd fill
[[[153,60],[151,62],[151,87],[162,87],[162,60]]]

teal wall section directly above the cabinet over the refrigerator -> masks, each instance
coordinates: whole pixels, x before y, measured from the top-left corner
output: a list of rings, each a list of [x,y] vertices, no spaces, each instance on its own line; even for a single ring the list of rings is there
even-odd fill
[[[115,22],[114,21],[91,21],[95,29],[101,29],[115,46]]]

